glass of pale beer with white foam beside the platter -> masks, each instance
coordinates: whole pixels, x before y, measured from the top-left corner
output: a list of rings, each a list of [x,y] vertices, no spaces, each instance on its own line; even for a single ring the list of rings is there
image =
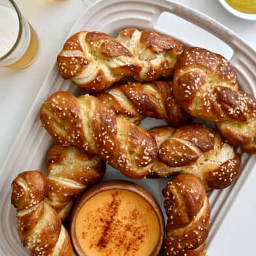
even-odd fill
[[[39,40],[13,0],[0,0],[0,67],[24,69],[33,63]]]

